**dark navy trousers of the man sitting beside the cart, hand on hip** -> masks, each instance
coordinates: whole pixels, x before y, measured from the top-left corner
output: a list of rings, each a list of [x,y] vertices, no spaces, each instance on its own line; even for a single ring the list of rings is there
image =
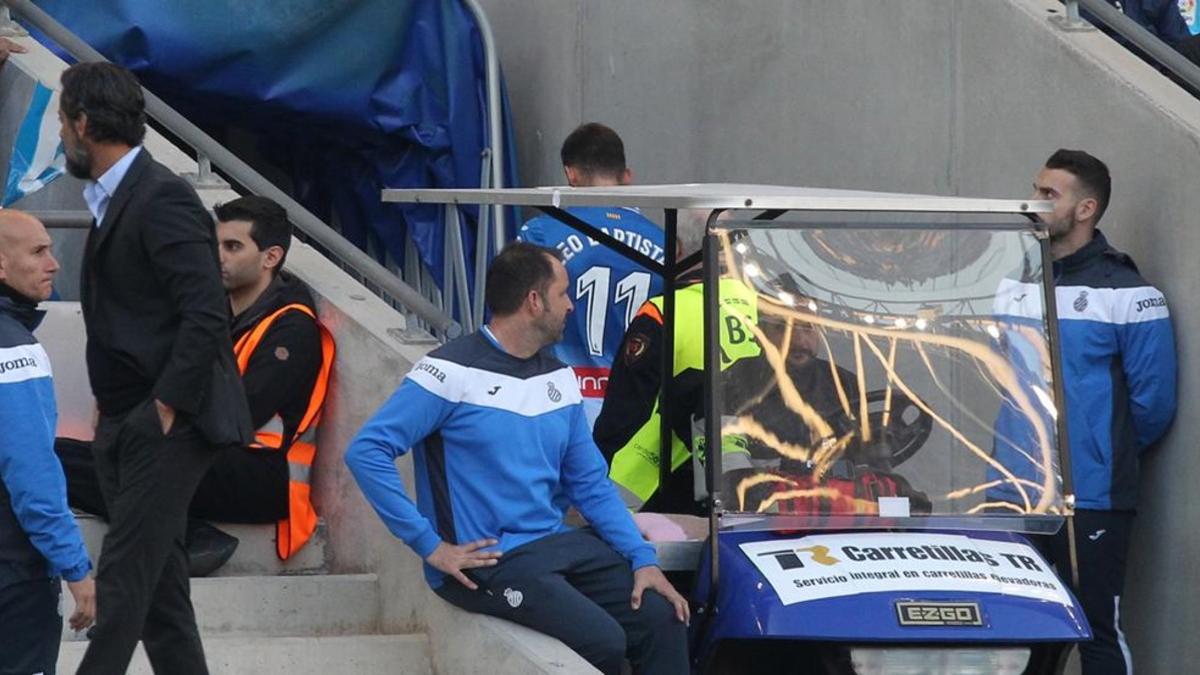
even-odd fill
[[[638,674],[688,673],[686,627],[674,608],[647,591],[634,611],[629,562],[590,530],[530,542],[472,573],[478,591],[448,578],[436,592],[467,611],[558,638],[605,675],[619,674],[626,655]]]

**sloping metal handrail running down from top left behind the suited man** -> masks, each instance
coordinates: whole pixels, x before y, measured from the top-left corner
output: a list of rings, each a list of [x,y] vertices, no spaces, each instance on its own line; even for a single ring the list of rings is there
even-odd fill
[[[64,49],[80,61],[107,61],[100,52],[67,30],[54,17],[47,14],[30,0],[0,0],[7,5],[13,13],[28,20],[50,40],[58,42]],[[269,197],[278,202],[288,211],[288,219],[314,243],[323,246],[335,257],[340,258],[361,279],[377,288],[380,294],[389,295],[410,310],[416,317],[426,322],[434,331],[445,338],[456,338],[462,333],[462,327],[445,312],[440,311],[433,303],[426,300],[415,288],[404,283],[403,280],[388,270],[371,256],[359,250],[344,237],[329,227],[320,219],[312,215],[286,192],[276,187],[271,181],[250,167],[236,155],[217,143],[200,127],[179,114],[161,98],[148,89],[142,88],[146,102],[146,113],[158,124],[164,126],[178,138],[190,144],[197,154],[211,159],[212,163],[223,171],[229,178],[238,181],[256,195]],[[386,298],[385,298],[386,299]]]

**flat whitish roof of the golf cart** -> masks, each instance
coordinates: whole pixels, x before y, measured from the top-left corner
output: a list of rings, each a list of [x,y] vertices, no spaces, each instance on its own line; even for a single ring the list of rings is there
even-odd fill
[[[491,190],[384,190],[384,202],[509,204],[523,207],[637,207],[643,209],[782,209],[805,211],[1049,213],[1050,202],[976,199],[826,187],[740,183],[623,185],[616,187],[510,187]]]

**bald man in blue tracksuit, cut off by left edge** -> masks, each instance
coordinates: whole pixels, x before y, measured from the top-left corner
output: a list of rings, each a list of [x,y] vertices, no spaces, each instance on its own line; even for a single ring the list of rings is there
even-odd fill
[[[91,562],[54,455],[50,363],[32,335],[58,269],[42,223],[0,210],[0,673],[54,673],[59,578],[76,601],[71,627],[96,616]]]

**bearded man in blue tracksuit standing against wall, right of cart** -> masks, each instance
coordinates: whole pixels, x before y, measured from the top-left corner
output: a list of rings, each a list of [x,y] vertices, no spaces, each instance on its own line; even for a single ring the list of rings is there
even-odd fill
[[[1094,635],[1080,649],[1085,675],[1133,670],[1120,617],[1138,459],[1166,431],[1176,407],[1166,299],[1096,228],[1110,192],[1108,167],[1079,150],[1056,151],[1033,181],[1033,198],[1055,204],[1040,220],[1055,259],[1076,498],[1075,592]],[[1063,572],[1067,536],[1063,528],[1048,544],[1051,562]]]

